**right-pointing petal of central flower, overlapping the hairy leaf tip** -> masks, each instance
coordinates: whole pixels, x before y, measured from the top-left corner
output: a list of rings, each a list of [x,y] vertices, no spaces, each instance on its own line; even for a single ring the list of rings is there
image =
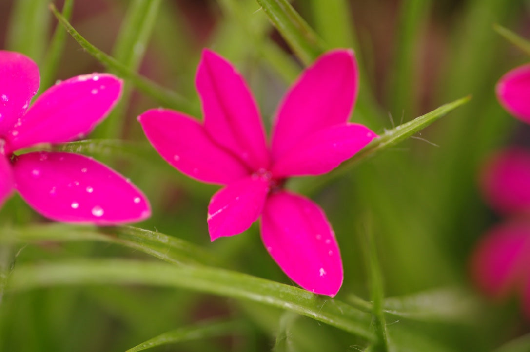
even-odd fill
[[[356,123],[316,131],[282,155],[273,164],[272,175],[286,177],[330,172],[376,137],[377,134]]]

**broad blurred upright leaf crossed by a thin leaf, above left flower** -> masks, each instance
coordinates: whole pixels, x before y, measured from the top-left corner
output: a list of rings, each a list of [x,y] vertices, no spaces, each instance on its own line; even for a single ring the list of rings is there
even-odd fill
[[[123,20],[114,46],[113,57],[133,72],[144,58],[149,38],[157,20],[161,0],[134,0],[127,7],[127,13]],[[111,70],[113,74],[119,71]],[[99,136],[106,138],[121,137],[125,112],[129,104],[131,87],[126,84],[123,87],[120,102],[107,119],[105,119],[94,131]]]

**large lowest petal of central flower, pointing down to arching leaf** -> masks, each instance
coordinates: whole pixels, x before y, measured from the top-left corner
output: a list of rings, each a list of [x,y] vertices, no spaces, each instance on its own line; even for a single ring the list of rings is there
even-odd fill
[[[324,212],[312,201],[281,191],[265,203],[261,237],[272,258],[308,291],[335,296],[342,285],[339,246]]]

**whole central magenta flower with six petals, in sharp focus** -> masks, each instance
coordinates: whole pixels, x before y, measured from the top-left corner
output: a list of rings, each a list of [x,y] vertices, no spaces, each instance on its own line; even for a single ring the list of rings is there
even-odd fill
[[[263,243],[281,269],[306,290],[334,296],[343,270],[333,230],[319,206],[282,186],[290,176],[329,172],[377,137],[347,122],[357,81],[352,51],[317,59],[280,104],[269,148],[243,78],[224,58],[204,50],[196,77],[204,122],[164,109],[138,120],[172,166],[225,185],[208,206],[212,241],[245,231],[261,215]]]

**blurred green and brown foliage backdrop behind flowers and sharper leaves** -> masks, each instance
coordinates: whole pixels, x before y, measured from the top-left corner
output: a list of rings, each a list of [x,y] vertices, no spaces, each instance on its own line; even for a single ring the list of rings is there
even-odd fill
[[[57,21],[48,10],[49,2],[2,0],[0,48],[23,52],[36,61],[41,74],[47,75],[45,86],[56,79],[106,71],[69,36],[64,50],[50,49]],[[63,4],[55,2],[59,10]],[[354,305],[359,299],[374,300],[378,275],[377,270],[370,274],[373,240],[384,296],[394,297],[384,301],[385,307],[410,313],[409,318],[386,314],[388,346],[229,294],[87,280],[46,288],[27,284],[31,290],[12,291],[7,286],[0,305],[0,351],[120,351],[177,328],[189,328],[197,338],[152,350],[482,351],[530,332],[516,302],[484,301],[467,271],[474,243],[498,221],[476,187],[480,163],[501,146],[528,145],[530,136],[530,128],[503,111],[494,95],[500,76],[528,58],[497,34],[493,24],[530,37],[530,2],[292,4],[316,32],[319,48],[355,49],[362,76],[352,121],[382,134],[472,95],[471,102],[417,138],[379,152],[338,177],[293,179],[287,184],[322,206],[337,234],[345,267],[337,300]],[[193,79],[203,47],[219,52],[242,72],[268,128],[282,94],[306,61],[254,0],[77,1],[71,23],[129,70],[178,92],[187,103],[179,100],[175,105],[198,117]],[[50,57],[52,52],[58,53],[57,59]],[[257,224],[243,234],[210,243],[206,209],[217,187],[188,179],[152,150],[136,116],[162,104],[126,82],[122,103],[89,136],[98,141],[70,147],[107,163],[143,189],[153,216],[135,226],[194,243],[207,252],[213,266],[294,285],[263,248]],[[125,142],[112,148],[116,145],[111,140],[118,139]],[[141,265],[156,260],[116,241],[82,240],[77,229],[50,228],[47,220],[13,196],[0,212],[0,265],[7,279],[24,265],[38,268],[109,258]],[[90,231],[115,235],[112,229]],[[324,309],[335,303],[322,299],[315,304]],[[210,319],[215,322],[195,326]],[[374,324],[377,318],[370,318],[366,329],[377,332]],[[529,341],[526,337],[499,350],[527,351]]]

